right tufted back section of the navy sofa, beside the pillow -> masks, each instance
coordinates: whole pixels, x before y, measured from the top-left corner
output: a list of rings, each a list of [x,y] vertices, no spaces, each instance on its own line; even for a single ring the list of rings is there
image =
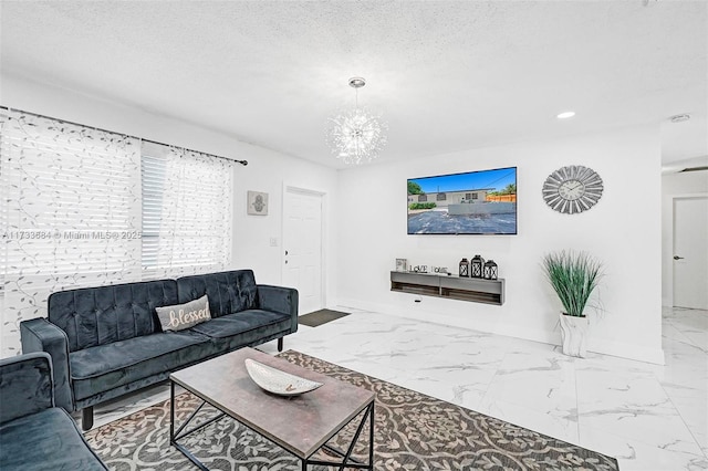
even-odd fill
[[[179,303],[209,297],[211,317],[258,307],[258,287],[252,270],[183,276],[177,279]]]

